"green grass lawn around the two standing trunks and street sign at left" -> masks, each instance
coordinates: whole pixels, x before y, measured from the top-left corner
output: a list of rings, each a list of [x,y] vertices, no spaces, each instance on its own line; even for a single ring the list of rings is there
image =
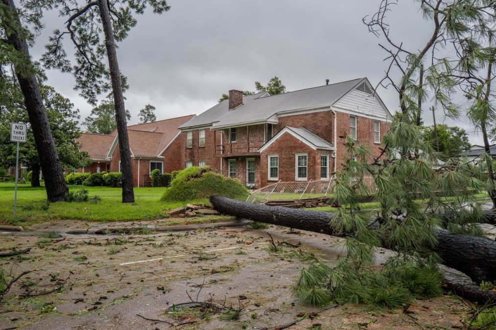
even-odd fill
[[[97,203],[56,202],[48,204],[45,188],[31,188],[29,184],[17,185],[17,214],[14,217],[14,184],[0,183],[0,223],[29,225],[32,223],[76,219],[88,221],[152,220],[167,217],[166,212],[186,202],[165,203],[160,201],[165,188],[134,188],[135,202],[122,203],[122,190],[109,187],[69,186],[69,191],[81,188],[89,191],[89,197],[99,196]],[[190,203],[207,203],[208,200],[190,200]],[[48,205],[48,209],[46,206]]]

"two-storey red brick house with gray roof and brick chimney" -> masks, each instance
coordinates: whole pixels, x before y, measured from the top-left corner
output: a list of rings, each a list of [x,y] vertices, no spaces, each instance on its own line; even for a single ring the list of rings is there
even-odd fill
[[[338,136],[380,154],[391,114],[367,78],[229,99],[184,123],[181,168],[209,165],[248,186],[329,178],[343,162]]]

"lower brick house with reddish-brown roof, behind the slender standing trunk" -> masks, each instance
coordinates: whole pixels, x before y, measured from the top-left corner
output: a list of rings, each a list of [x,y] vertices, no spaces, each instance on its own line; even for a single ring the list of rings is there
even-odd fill
[[[184,168],[178,155],[184,148],[186,132],[178,127],[193,117],[188,115],[127,127],[135,187],[149,186],[150,173],[154,169],[170,173]],[[81,143],[80,150],[88,152],[93,160],[90,166],[78,172],[121,172],[117,129],[108,135],[82,133],[77,141]]]

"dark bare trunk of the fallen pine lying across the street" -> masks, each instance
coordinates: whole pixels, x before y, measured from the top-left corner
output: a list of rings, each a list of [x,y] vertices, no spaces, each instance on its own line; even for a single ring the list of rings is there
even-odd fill
[[[224,214],[327,235],[338,234],[330,225],[333,214],[329,212],[251,204],[220,196],[211,196],[210,202]],[[437,231],[437,240],[434,251],[443,259],[443,264],[467,274],[476,283],[496,281],[495,241],[448,234],[444,229]]]

